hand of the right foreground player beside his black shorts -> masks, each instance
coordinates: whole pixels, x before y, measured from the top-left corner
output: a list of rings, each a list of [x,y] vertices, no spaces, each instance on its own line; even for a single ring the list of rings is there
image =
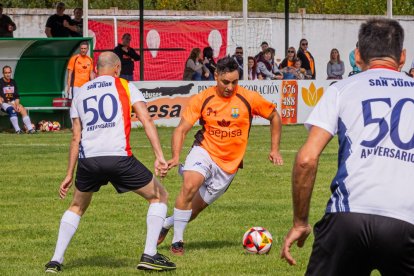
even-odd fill
[[[296,260],[290,254],[290,248],[295,242],[298,247],[303,247],[311,232],[312,227],[309,224],[306,226],[293,226],[285,237],[280,258],[285,259],[290,265],[296,265]]]

